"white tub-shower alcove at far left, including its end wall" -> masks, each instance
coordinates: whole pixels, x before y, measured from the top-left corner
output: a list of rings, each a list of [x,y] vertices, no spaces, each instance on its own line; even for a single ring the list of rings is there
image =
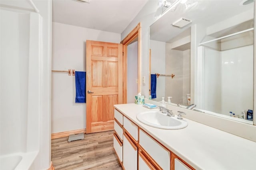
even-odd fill
[[[0,2],[1,169],[16,162],[18,169],[42,170],[50,167],[52,2],[36,1],[39,14],[19,2]],[[7,159],[12,163],[3,167]]]

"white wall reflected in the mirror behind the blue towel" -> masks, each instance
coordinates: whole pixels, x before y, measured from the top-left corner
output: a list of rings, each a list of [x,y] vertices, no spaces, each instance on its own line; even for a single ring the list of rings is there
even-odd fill
[[[166,43],[161,41],[150,40],[150,49],[151,74],[166,74]],[[165,83],[165,76],[159,76],[158,78],[156,78],[156,98],[152,100],[161,101],[162,97],[166,97]],[[164,100],[167,101],[168,98],[165,98]]]

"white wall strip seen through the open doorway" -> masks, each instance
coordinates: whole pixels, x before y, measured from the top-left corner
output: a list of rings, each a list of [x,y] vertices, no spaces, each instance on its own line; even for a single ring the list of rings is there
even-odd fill
[[[127,103],[134,103],[138,94],[138,41],[127,47]]]

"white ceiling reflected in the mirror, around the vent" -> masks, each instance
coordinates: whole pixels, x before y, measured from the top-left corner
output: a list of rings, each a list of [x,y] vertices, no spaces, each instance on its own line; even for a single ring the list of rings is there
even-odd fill
[[[242,12],[250,11],[253,15],[254,10],[253,3],[247,6],[240,6],[242,0],[188,0],[187,2],[192,4],[189,8],[186,8],[186,4],[178,4],[174,12],[166,12],[152,24],[150,26],[150,39],[171,43],[172,39],[177,35],[186,37],[187,31],[185,30],[193,24],[209,27],[214,23],[226,20]],[[192,23],[183,28],[173,27],[172,23],[181,17],[191,19]],[[248,18],[250,17],[248,16]],[[226,31],[225,34],[228,34],[228,32],[230,31]]]

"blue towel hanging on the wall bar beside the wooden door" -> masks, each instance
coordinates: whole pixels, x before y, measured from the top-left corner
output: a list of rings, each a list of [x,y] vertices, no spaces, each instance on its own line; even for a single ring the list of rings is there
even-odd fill
[[[76,103],[86,103],[86,72],[76,71]]]

